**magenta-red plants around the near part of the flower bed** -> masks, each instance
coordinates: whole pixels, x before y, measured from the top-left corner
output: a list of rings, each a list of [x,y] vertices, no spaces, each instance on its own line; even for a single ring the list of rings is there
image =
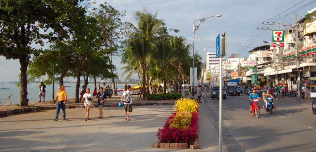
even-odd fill
[[[171,120],[177,117],[179,112],[173,112],[167,119],[163,128],[158,129],[158,139],[161,143],[188,143],[193,144],[194,140],[198,136],[198,112],[186,113],[191,115],[190,127],[171,127],[170,124],[174,124]],[[184,115],[186,115],[184,114]],[[184,116],[178,114],[178,116]],[[178,118],[175,118],[178,119]]]

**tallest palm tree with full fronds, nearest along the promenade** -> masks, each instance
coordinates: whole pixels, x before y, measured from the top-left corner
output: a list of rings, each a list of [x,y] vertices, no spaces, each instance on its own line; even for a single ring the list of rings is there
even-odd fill
[[[149,57],[150,52],[153,50],[155,33],[157,33],[159,28],[164,25],[164,22],[157,19],[157,12],[152,15],[147,10],[144,10],[144,12],[136,11],[134,17],[137,21],[138,27],[134,26],[132,23],[126,23],[128,29],[130,30],[128,33],[128,39],[126,40],[126,51],[128,51],[133,58],[141,63],[141,69],[143,72],[143,99],[145,100],[146,60]]]

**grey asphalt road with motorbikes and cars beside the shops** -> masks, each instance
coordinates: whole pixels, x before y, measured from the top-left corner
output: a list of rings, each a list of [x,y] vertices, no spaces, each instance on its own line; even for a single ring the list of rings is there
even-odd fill
[[[205,104],[210,103],[218,112],[218,99],[205,94]],[[256,118],[248,110],[247,95],[227,96],[223,123],[246,152],[316,152],[316,117],[311,103],[298,103],[295,98],[274,103],[277,110],[269,114],[261,109],[260,118]]]

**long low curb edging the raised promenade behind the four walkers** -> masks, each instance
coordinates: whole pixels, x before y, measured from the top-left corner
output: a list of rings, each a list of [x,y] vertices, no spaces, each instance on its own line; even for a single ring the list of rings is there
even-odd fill
[[[149,106],[149,105],[174,105],[174,102],[170,103],[132,103],[133,106]],[[93,108],[97,108],[98,106],[95,105]],[[118,104],[107,104],[103,105],[103,107],[118,107]],[[84,108],[83,105],[69,105],[66,106],[68,109],[75,109],[75,108]],[[42,110],[53,110],[56,109],[56,106],[40,106],[40,107],[26,107],[21,109],[13,109],[13,110],[6,110],[6,111],[0,111],[0,118],[2,117],[8,117],[11,115],[17,115],[17,114],[24,114],[24,113],[30,113],[30,112],[39,112]]]

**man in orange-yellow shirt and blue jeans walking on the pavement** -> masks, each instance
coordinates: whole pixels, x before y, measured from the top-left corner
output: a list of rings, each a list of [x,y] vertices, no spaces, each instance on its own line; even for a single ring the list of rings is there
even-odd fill
[[[65,91],[62,91],[62,85],[58,85],[58,91],[56,92],[56,115],[54,121],[58,121],[58,116],[60,112],[60,108],[62,110],[62,119],[66,120],[66,102],[67,102],[67,94]]]

